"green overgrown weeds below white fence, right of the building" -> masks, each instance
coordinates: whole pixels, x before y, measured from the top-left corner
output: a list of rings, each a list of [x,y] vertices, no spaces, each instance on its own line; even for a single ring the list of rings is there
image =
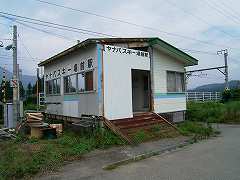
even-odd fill
[[[240,101],[188,103],[186,118],[206,123],[240,123]]]

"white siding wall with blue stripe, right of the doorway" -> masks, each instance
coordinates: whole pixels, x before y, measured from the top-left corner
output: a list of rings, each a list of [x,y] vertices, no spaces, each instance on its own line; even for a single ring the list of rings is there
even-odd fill
[[[184,93],[167,93],[167,71],[185,72],[184,64],[158,49],[153,50],[153,97],[156,113],[186,110]]]

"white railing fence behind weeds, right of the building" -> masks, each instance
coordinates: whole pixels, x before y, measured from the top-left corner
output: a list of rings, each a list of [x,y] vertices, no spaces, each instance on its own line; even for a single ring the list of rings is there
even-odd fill
[[[186,92],[187,101],[220,101],[221,92]]]

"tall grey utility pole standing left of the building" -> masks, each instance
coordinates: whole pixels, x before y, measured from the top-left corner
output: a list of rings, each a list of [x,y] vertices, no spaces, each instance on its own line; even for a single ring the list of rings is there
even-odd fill
[[[17,86],[13,86],[13,126],[16,127],[18,121],[18,79],[17,79],[17,26],[13,26],[13,80],[17,81]]]

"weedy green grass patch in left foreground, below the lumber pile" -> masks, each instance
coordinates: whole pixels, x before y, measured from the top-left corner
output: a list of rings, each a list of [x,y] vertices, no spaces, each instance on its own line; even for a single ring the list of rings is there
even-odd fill
[[[31,176],[45,169],[55,169],[64,161],[79,159],[96,148],[121,144],[124,142],[109,130],[98,131],[92,137],[65,132],[55,140],[18,136],[14,141],[0,142],[0,179]]]

